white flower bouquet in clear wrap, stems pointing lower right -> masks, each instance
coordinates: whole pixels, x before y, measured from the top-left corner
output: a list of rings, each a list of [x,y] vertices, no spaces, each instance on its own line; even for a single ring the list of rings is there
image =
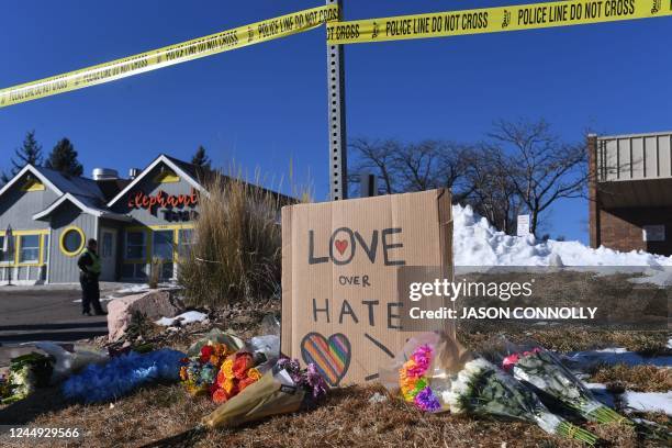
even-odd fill
[[[444,394],[455,414],[494,415],[536,423],[549,434],[594,445],[597,437],[552,414],[537,395],[493,363],[478,358],[464,365]]]

